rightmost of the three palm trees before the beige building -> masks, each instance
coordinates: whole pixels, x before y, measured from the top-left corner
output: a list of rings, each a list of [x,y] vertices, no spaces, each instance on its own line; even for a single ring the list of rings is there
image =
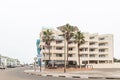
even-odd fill
[[[74,35],[74,39],[75,39],[75,43],[77,43],[77,47],[78,47],[78,67],[80,68],[80,50],[79,49],[80,49],[80,45],[85,43],[83,33],[81,33],[81,31],[78,31]]]

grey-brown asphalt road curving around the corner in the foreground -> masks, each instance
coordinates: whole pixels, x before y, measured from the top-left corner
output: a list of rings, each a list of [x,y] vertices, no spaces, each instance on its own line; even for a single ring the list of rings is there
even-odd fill
[[[43,76],[30,75],[30,74],[24,73],[25,69],[30,69],[30,68],[20,67],[20,68],[9,68],[6,70],[0,70],[0,80],[88,80],[88,79],[43,77]],[[91,79],[91,80],[94,80],[94,79]],[[95,80],[101,80],[101,79],[95,79]],[[104,80],[107,80],[107,79],[104,79]],[[114,79],[114,80],[117,80],[117,79]]]

